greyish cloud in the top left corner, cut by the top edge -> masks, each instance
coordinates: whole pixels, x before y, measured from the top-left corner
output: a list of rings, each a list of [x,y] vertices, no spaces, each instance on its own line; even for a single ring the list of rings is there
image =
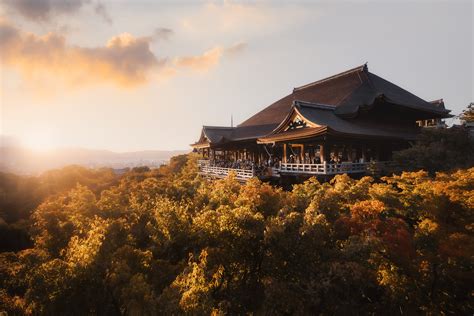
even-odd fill
[[[48,22],[57,15],[73,14],[85,5],[94,5],[95,12],[104,21],[112,20],[105,6],[100,1],[91,0],[0,0],[7,8],[23,17],[36,22]]]

